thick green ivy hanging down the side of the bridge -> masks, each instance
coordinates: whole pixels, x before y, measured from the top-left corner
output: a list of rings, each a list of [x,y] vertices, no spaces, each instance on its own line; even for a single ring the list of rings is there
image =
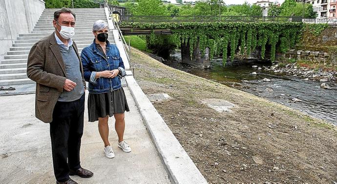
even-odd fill
[[[233,60],[239,47],[243,53],[249,54],[257,48],[261,49],[261,57],[271,48],[271,60],[275,59],[276,50],[287,51],[295,46],[302,31],[302,23],[122,23],[122,25],[146,29],[171,29],[175,38],[172,43],[190,44],[190,52],[199,44],[202,51],[206,47],[214,54],[227,55]],[[150,35],[147,44],[155,42],[155,35]],[[230,53],[230,54],[228,54]]]

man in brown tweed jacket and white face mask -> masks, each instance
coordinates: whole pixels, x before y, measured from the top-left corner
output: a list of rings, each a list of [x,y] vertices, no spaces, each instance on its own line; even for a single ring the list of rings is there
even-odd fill
[[[70,9],[56,11],[55,32],[31,48],[27,63],[27,76],[36,82],[35,115],[50,125],[54,174],[60,184],[76,184],[69,175],[93,176],[80,165],[85,81],[71,39],[75,18]]]

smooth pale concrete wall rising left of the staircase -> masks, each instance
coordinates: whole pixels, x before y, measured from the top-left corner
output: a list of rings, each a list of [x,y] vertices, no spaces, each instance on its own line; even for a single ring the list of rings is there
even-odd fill
[[[0,0],[0,60],[19,34],[33,30],[44,8],[43,0]]]

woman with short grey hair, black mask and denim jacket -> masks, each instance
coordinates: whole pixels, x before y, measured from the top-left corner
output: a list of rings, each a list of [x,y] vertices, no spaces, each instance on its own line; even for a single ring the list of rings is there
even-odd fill
[[[118,48],[107,41],[108,25],[98,20],[92,27],[94,42],[82,50],[81,58],[84,79],[89,82],[88,114],[89,121],[98,120],[98,130],[104,142],[107,158],[115,157],[110,146],[108,118],[115,116],[115,129],[118,135],[118,147],[125,152],[131,148],[124,141],[124,113],[129,111],[126,96],[121,85],[125,76],[123,60]]]

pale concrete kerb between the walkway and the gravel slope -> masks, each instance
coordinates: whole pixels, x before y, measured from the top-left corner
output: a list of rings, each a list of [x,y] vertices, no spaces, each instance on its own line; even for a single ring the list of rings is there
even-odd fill
[[[168,171],[171,182],[174,184],[207,184],[204,176],[175,138],[132,74],[128,74],[126,76],[128,89]]]

